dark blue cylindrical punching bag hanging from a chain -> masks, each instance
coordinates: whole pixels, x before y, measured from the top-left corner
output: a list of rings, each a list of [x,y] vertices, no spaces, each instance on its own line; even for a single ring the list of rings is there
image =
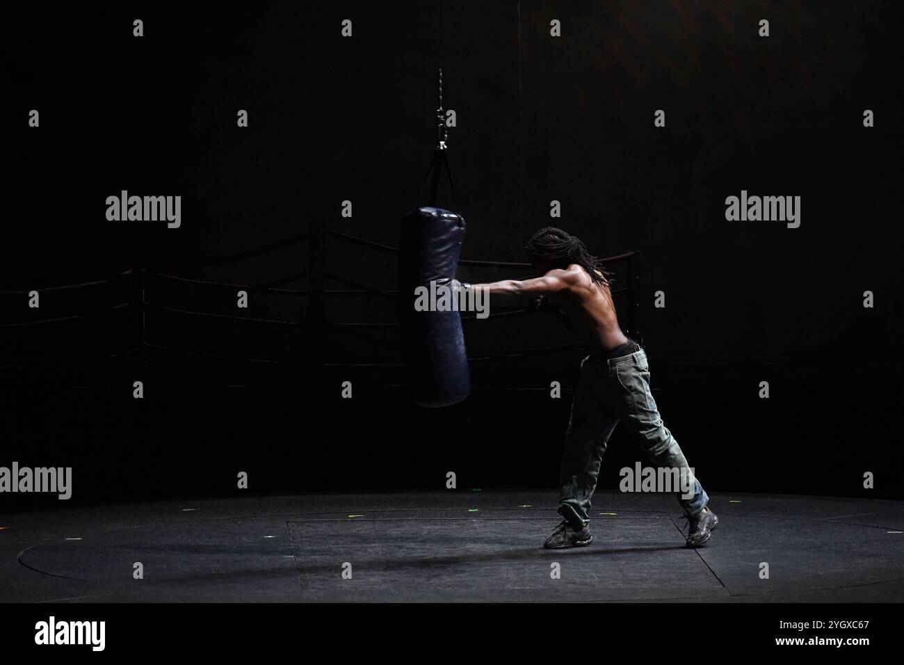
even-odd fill
[[[415,208],[401,223],[399,317],[402,349],[414,402],[448,406],[471,392],[465,335],[457,311],[418,311],[415,290],[454,278],[465,220],[442,208]],[[436,287],[434,287],[435,289]]]

